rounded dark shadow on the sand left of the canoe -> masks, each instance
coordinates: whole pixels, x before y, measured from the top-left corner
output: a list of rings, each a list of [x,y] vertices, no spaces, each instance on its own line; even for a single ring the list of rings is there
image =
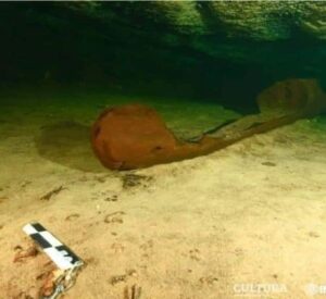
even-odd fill
[[[38,153],[54,163],[85,172],[108,172],[92,152],[85,125],[67,121],[43,126],[35,144]]]

